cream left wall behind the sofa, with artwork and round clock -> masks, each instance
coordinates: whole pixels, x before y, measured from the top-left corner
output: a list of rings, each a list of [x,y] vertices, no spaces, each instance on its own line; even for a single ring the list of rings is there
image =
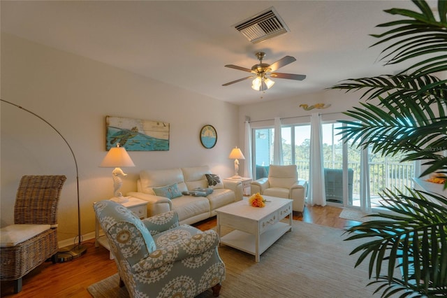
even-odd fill
[[[112,169],[99,168],[105,151],[105,116],[170,123],[170,150],[129,152],[122,192],[136,190],[142,169],[208,164],[233,175],[231,148],[239,145],[238,107],[78,55],[1,34],[1,99],[40,115],[61,132],[78,162],[82,234],[94,231],[94,201],[112,197]],[[1,103],[1,226],[13,223],[15,192],[23,175],[64,174],[59,241],[78,234],[75,163],[64,141],[45,122]],[[205,149],[199,131],[217,129]]]

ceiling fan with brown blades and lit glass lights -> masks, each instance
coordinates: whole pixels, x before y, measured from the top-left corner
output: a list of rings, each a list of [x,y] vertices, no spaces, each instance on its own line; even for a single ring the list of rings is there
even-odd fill
[[[300,74],[274,72],[282,66],[286,66],[287,64],[295,62],[296,59],[294,57],[285,56],[272,64],[263,63],[265,52],[257,52],[256,57],[258,57],[259,63],[254,64],[254,66],[251,66],[251,69],[246,69],[245,67],[233,64],[227,64],[225,67],[228,67],[230,69],[237,69],[240,71],[247,71],[253,74],[251,76],[247,76],[246,78],[233,80],[229,83],[223,84],[222,86],[228,86],[234,83],[242,82],[242,80],[248,80],[249,78],[254,78],[251,88],[253,88],[256,91],[265,91],[270,89],[270,87],[272,87],[274,84],[274,81],[268,78],[268,76],[270,76],[271,78],[287,78],[289,80],[304,80],[306,78],[305,75]]]

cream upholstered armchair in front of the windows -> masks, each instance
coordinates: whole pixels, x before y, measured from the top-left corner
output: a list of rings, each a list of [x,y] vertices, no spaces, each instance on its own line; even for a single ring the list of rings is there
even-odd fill
[[[270,165],[267,178],[254,180],[251,183],[251,194],[293,199],[293,211],[305,209],[307,181],[298,179],[296,165]]]

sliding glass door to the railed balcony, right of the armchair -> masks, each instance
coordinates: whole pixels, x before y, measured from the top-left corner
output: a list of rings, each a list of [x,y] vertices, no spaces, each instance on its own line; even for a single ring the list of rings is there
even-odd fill
[[[365,166],[368,167],[368,181],[360,180],[362,149],[358,143],[341,140],[339,127],[342,123],[332,122],[322,125],[323,158],[325,166],[326,201],[360,207],[360,183],[369,187],[369,197],[365,201],[372,208],[381,206],[382,190],[390,188],[408,192],[414,172],[413,162],[400,162],[402,155],[382,156],[367,149]]]

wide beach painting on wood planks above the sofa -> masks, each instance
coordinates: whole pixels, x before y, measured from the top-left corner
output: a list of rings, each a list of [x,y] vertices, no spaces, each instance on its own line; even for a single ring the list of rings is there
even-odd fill
[[[128,151],[169,150],[169,123],[122,117],[105,117],[105,149],[117,143]]]

